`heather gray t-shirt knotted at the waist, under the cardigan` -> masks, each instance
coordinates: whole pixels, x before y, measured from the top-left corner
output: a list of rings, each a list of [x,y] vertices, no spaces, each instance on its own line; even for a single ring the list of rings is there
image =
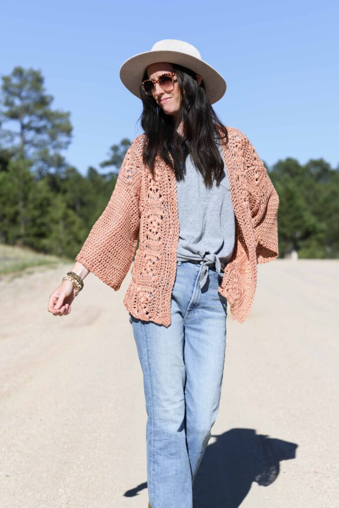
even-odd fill
[[[235,242],[234,210],[224,154],[216,140],[224,161],[224,174],[217,187],[206,188],[203,177],[193,164],[190,154],[184,165],[184,180],[176,181],[179,242],[177,261],[204,261],[200,287],[205,284],[208,266],[224,276],[223,270],[232,256]],[[186,169],[186,170],[185,170]]]

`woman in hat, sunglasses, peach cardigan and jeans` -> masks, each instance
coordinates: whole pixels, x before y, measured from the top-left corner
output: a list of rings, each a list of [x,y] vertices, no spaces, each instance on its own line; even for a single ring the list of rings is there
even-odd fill
[[[279,198],[253,145],[211,104],[224,78],[183,41],[129,58],[144,134],[48,310],[67,315],[91,271],[124,298],[143,372],[151,508],[192,508],[192,486],[219,408],[227,303],[249,314],[257,264],[278,257]]]

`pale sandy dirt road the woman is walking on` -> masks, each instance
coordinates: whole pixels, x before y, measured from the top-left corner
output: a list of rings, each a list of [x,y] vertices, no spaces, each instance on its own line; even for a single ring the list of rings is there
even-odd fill
[[[118,292],[89,274],[56,317],[48,298],[70,268],[0,281],[0,506],[146,508],[130,273]],[[245,323],[229,311],[196,508],[339,506],[338,281],[339,261],[277,260],[258,266]]]

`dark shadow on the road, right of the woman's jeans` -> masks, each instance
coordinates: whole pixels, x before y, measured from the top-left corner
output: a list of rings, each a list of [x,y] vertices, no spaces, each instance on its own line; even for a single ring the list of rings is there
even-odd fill
[[[278,477],[280,462],[294,459],[297,444],[231,429],[207,446],[194,486],[194,508],[238,508],[252,482],[267,487]]]

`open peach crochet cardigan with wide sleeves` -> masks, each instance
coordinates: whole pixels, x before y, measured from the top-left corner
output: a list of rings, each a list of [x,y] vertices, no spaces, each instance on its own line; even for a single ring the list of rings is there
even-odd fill
[[[235,246],[219,292],[232,319],[245,321],[253,305],[257,264],[278,258],[279,197],[248,138],[227,127],[222,149],[235,214]],[[156,176],[142,162],[145,134],[136,137],[121,165],[112,196],[76,256],[117,291],[131,270],[124,305],[135,317],[171,324],[179,220],[174,171],[160,157]]]

